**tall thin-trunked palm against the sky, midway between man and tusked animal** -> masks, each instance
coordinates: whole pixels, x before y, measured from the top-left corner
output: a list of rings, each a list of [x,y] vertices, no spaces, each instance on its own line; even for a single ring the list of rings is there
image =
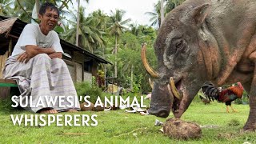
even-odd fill
[[[122,20],[124,14],[126,12],[124,10],[111,10],[110,14],[110,35],[114,36],[115,44],[114,44],[114,54],[115,57],[118,54],[118,38],[123,33],[123,30],[126,30],[126,27],[124,25],[128,24],[128,22],[131,21],[130,18],[126,20]],[[118,77],[118,67],[117,67],[117,60],[114,62],[114,77]]]

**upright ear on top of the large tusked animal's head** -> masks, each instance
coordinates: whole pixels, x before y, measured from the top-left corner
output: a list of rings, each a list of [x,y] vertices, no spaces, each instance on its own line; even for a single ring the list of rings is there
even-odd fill
[[[193,18],[198,26],[201,26],[205,21],[207,14],[209,13],[208,7],[210,4],[206,3],[202,6],[198,6],[194,9]]]

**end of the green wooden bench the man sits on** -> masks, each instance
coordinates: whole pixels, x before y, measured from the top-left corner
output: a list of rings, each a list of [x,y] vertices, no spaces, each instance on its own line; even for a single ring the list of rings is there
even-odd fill
[[[12,79],[0,79],[0,98],[9,98],[14,94],[18,94],[18,85]]]

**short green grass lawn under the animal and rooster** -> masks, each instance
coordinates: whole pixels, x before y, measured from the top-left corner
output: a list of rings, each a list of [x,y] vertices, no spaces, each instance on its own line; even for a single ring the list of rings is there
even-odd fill
[[[224,103],[192,102],[182,119],[206,127],[202,128],[202,138],[188,141],[162,134],[158,130],[161,127],[154,126],[154,121],[165,119],[153,115],[127,114],[124,110],[86,111],[76,114],[97,114],[98,126],[56,126],[56,122],[53,126],[14,126],[10,114],[31,113],[3,109],[0,111],[0,143],[255,143],[256,133],[240,132],[249,106],[233,106],[238,113],[227,114]],[[171,114],[169,118],[172,117]]]

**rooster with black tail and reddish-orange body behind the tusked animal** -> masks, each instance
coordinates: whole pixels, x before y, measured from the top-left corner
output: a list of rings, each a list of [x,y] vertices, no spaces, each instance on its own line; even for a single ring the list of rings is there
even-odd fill
[[[222,88],[218,88],[214,86],[211,82],[206,82],[202,85],[202,92],[206,95],[210,100],[216,99],[218,102],[226,103],[226,112],[229,113],[229,107],[234,111],[231,106],[231,102],[236,100],[237,98],[242,98],[243,87],[240,82],[237,82],[238,86],[230,86],[224,90]]]

